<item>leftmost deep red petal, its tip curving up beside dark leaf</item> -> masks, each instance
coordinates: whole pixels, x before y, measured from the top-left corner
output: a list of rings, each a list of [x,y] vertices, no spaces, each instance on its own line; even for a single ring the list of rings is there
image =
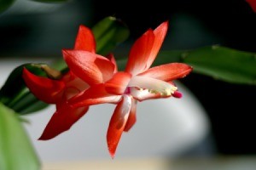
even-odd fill
[[[64,82],[47,77],[38,77],[26,68],[23,69],[22,77],[32,94],[48,104],[55,104],[59,100],[58,94],[65,88]]]

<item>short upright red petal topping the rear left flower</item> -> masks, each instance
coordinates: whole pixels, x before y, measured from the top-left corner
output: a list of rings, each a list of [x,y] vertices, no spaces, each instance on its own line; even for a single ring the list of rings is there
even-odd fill
[[[86,26],[79,26],[74,49],[96,53],[96,40],[93,32]]]

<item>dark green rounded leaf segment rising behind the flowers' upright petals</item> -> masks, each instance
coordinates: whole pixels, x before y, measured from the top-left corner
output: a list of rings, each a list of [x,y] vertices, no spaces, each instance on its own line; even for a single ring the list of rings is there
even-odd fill
[[[96,52],[102,55],[108,54],[130,35],[128,27],[114,17],[104,18],[93,26],[92,31],[96,37]]]

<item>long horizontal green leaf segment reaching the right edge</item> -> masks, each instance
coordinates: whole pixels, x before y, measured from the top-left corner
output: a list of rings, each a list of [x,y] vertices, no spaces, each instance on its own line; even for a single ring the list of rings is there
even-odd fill
[[[193,66],[193,72],[230,82],[256,85],[256,54],[232,48],[210,46],[186,51],[161,52],[159,64],[183,62]],[[167,57],[168,56],[168,57]]]

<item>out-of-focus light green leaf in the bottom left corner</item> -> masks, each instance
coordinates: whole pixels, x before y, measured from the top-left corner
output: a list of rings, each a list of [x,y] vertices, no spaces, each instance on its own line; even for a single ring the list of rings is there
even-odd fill
[[[15,112],[0,103],[0,169],[39,170],[40,161]]]

